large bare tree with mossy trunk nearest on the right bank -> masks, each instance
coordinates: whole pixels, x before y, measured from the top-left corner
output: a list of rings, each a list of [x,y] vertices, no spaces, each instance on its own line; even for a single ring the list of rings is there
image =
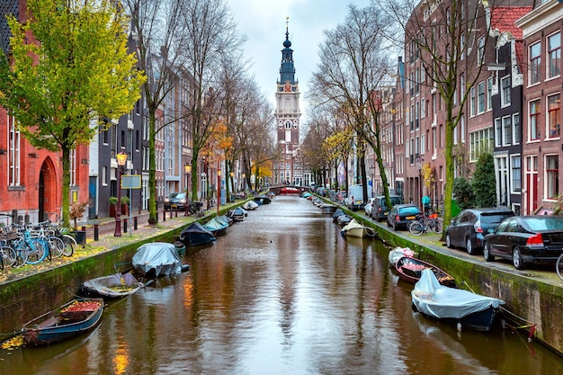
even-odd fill
[[[393,19],[403,32],[396,42],[408,55],[406,61],[420,67],[419,77],[405,76],[408,87],[422,85],[430,94],[437,91],[442,111],[438,121],[444,124],[445,187],[443,192],[443,221],[451,219],[451,192],[454,178],[456,147],[454,131],[467,118],[466,104],[476,84],[490,76],[486,63],[495,62],[495,43],[491,38],[490,14],[493,8],[508,5],[530,5],[526,0],[450,0],[418,2],[404,0],[380,4],[380,13]],[[507,8],[506,8],[507,9]],[[502,17],[497,11],[497,16]],[[424,96],[424,93],[421,94]]]

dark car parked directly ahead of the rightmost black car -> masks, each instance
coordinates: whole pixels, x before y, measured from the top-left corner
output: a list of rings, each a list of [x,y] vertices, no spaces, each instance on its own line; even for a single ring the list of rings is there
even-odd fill
[[[501,221],[511,216],[514,216],[513,210],[498,207],[462,210],[446,228],[446,246],[463,247],[468,254],[476,254],[483,247],[483,237],[488,231],[495,230]]]

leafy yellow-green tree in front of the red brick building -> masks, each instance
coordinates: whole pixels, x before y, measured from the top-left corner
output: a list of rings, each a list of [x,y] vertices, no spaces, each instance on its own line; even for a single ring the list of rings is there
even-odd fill
[[[144,81],[127,50],[127,20],[112,4],[28,0],[29,19],[8,17],[13,37],[0,66],[0,104],[33,147],[62,152],[66,226],[71,151],[89,144],[104,118],[130,112]]]

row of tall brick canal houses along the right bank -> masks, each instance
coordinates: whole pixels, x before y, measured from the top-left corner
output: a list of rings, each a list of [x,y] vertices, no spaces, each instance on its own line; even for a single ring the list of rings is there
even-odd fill
[[[419,4],[424,22],[440,24],[444,3],[438,3]],[[474,1],[458,4],[467,13],[476,9]],[[454,177],[470,179],[479,153],[492,150],[497,204],[517,214],[549,213],[563,178],[559,175],[563,4],[557,0],[503,4],[510,6],[479,1],[478,23],[461,38],[468,48],[460,56],[455,93],[454,115],[462,112],[453,130]],[[416,27],[415,22],[410,26]],[[448,40],[445,30],[437,34],[438,40]],[[389,187],[417,204],[428,194],[439,208],[445,183],[445,107],[424,73],[424,52],[405,40],[404,56],[398,58],[395,87],[383,89],[391,93],[384,101],[380,129]],[[479,60],[483,67],[478,79],[467,87]],[[460,93],[466,89],[467,103],[461,107]],[[382,192],[377,165],[370,165],[375,169],[374,189]],[[425,180],[431,180],[430,186]]]

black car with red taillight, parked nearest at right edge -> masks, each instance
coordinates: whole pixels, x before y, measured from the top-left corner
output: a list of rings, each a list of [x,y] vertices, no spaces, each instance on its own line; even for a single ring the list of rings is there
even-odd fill
[[[511,259],[514,268],[526,263],[555,263],[563,253],[563,217],[538,215],[504,219],[493,233],[485,236],[483,255]]]

